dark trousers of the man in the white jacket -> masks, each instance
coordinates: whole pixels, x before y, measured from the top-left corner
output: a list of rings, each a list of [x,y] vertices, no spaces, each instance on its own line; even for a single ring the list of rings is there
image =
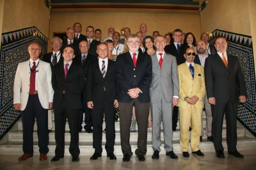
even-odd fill
[[[43,108],[38,94],[29,94],[28,104],[21,111],[23,127],[23,152],[33,155],[33,131],[36,117],[39,152],[49,152],[49,134],[47,131],[47,109]]]

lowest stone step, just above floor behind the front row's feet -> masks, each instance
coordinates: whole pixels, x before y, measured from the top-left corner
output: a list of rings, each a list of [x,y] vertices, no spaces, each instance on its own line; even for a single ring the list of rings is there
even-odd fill
[[[102,155],[106,156],[106,151],[104,150],[104,143],[105,142],[102,142],[102,148],[103,148]],[[137,143],[137,141],[131,141],[132,152],[135,152],[135,150],[137,148],[136,143]],[[226,138],[223,138],[222,144],[223,144],[223,147],[225,148],[225,150],[227,150]],[[56,148],[55,142],[50,142],[49,153],[47,155],[53,156],[55,148]],[[65,143],[65,155],[70,155],[70,153],[68,152],[68,148],[69,148],[69,143],[66,142]],[[94,149],[92,147],[91,142],[79,142],[79,148],[80,148],[80,155],[91,156],[94,153]],[[162,150],[162,152],[160,152],[160,154],[164,155],[165,151],[164,151],[164,147],[163,147],[163,142],[162,142],[162,145],[160,148]],[[213,143],[211,141],[207,141],[207,139],[203,139],[203,141],[200,143],[199,148],[202,152],[214,152],[215,151]],[[256,139],[245,137],[245,136],[239,136],[237,138],[237,150],[243,154],[243,150],[250,150],[250,149],[256,149]],[[182,153],[182,151],[180,149],[179,140],[177,140],[177,139],[173,140],[173,151],[175,153]],[[115,153],[115,155],[122,155],[120,142],[115,143],[115,152],[114,153]],[[190,146],[189,146],[189,153],[191,153]],[[9,142],[0,144],[0,155],[22,155],[22,154],[23,154],[22,141],[9,141]],[[152,155],[152,154],[153,154],[152,143],[150,141],[148,141],[147,155]],[[34,141],[34,155],[39,155],[37,141]],[[49,157],[49,159],[51,159],[51,157]]]

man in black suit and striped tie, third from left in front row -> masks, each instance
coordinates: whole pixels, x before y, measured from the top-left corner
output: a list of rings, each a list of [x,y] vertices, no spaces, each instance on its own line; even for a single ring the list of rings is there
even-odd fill
[[[108,59],[108,45],[100,43],[97,46],[99,60],[89,64],[86,81],[86,96],[88,108],[92,109],[93,121],[93,153],[90,160],[96,160],[102,153],[103,113],[106,120],[107,157],[115,160],[115,113],[118,108],[116,100],[116,63]]]

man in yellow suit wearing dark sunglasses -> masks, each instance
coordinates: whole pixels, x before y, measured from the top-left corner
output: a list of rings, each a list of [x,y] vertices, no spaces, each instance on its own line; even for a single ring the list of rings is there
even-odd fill
[[[205,96],[204,67],[194,63],[195,55],[193,48],[187,48],[184,53],[186,62],[178,66],[180,97],[177,106],[180,112],[180,147],[183,157],[189,157],[189,125],[191,123],[192,153],[204,156],[198,147]]]

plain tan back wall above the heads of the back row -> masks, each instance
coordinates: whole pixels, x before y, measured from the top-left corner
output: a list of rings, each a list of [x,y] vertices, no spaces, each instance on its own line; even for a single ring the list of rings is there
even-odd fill
[[[108,37],[109,27],[120,32],[123,27],[129,27],[136,34],[140,24],[145,23],[148,28],[147,34],[152,36],[153,31],[160,34],[181,29],[183,32],[193,32],[196,39],[200,38],[201,26],[200,15],[171,14],[171,13],[51,13],[49,40],[53,32],[65,32],[68,27],[73,27],[75,22],[83,26],[82,34],[86,34],[86,27],[92,25],[94,29],[101,29],[102,37]],[[48,41],[48,52],[51,52]]]

